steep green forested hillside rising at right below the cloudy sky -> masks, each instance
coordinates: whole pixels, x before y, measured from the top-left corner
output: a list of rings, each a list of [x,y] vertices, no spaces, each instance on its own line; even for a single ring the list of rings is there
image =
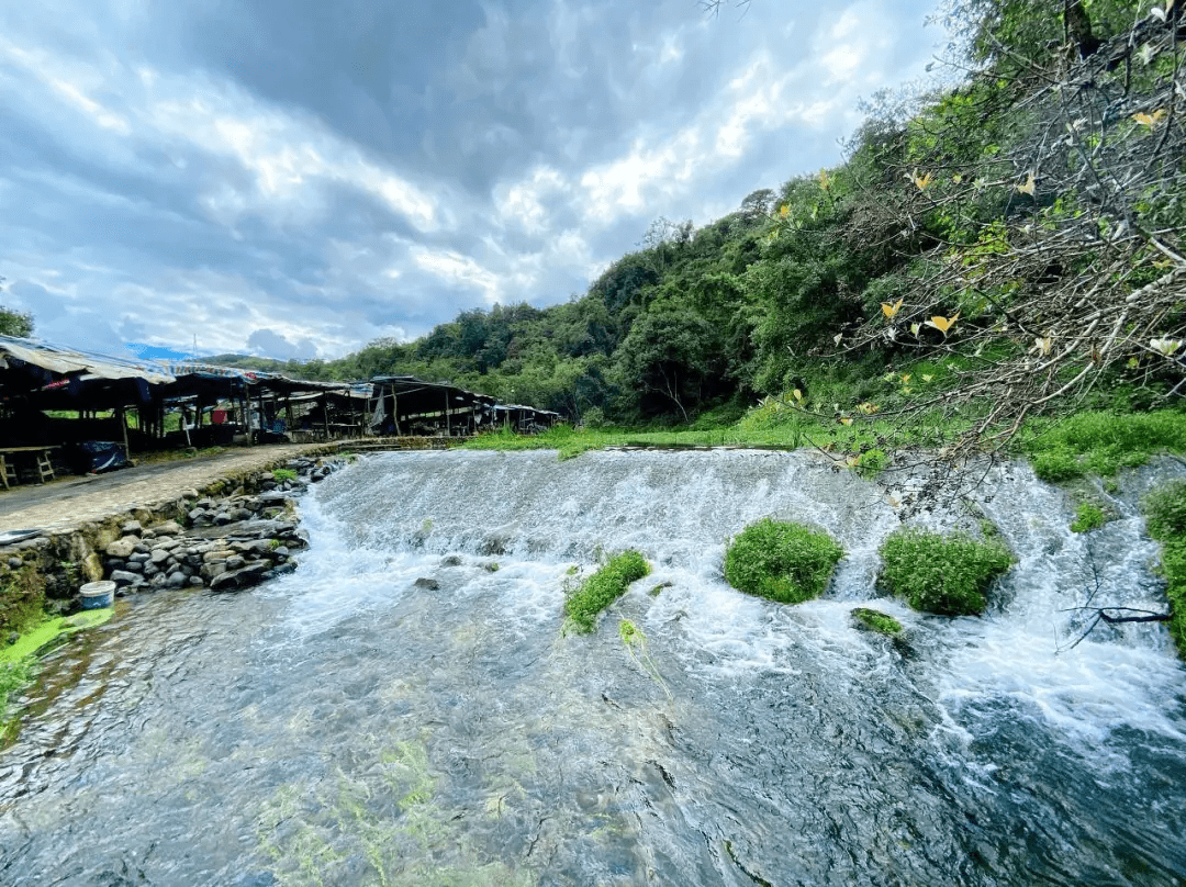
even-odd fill
[[[955,17],[971,72],[872,116],[843,165],[701,228],[661,221],[566,304],[279,368],[413,374],[617,422],[776,395],[840,419],[967,404],[987,432],[1084,397],[1174,400],[1179,6],[981,0]]]

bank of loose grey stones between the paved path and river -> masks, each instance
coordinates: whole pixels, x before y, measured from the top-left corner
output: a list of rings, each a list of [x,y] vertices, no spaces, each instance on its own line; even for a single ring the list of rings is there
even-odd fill
[[[47,610],[64,613],[79,605],[82,583],[102,579],[115,581],[119,596],[164,588],[222,592],[295,569],[294,553],[307,542],[294,502],[342,462],[286,449],[213,479],[208,470],[195,476],[205,480],[202,486],[171,486],[164,499],[109,508],[106,517],[96,518],[88,504],[82,516],[0,547],[0,617],[17,589],[44,595]],[[119,496],[106,498],[114,505]]]

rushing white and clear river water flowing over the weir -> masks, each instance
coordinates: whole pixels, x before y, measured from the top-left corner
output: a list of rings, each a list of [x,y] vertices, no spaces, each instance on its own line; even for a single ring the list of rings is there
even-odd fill
[[[808,455],[366,458],[304,500],[296,573],[57,655],[0,755],[0,883],[1181,883],[1186,672],[1160,625],[1070,646],[1089,599],[1163,606],[1156,548],[1123,502],[1071,534],[1024,468],[977,499],[1019,563],[943,619],[874,587],[894,497]],[[725,585],[766,515],[843,543],[824,599]],[[653,573],[563,636],[623,548]]]

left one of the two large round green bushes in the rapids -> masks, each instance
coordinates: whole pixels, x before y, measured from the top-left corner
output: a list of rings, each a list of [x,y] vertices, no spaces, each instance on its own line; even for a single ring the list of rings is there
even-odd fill
[[[746,527],[725,553],[725,579],[746,594],[780,604],[818,598],[844,550],[803,524],[764,518]]]

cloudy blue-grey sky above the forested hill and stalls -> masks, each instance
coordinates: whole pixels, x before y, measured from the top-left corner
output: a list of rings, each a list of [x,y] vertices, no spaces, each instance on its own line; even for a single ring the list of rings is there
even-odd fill
[[[332,359],[582,295],[655,219],[842,160],[933,0],[0,11],[0,305],[109,353]]]

